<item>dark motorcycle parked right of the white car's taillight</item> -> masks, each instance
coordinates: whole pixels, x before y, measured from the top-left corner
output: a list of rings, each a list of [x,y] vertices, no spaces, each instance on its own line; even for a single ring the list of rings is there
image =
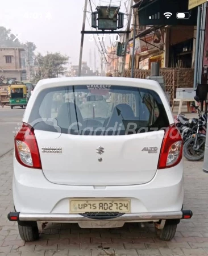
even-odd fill
[[[194,100],[198,102],[199,98],[195,96]],[[184,138],[185,158],[189,161],[199,161],[204,158],[205,154],[207,112],[202,115],[199,106],[195,104],[192,106],[198,113],[198,119],[188,119],[181,114],[177,120],[180,122],[178,126]]]

